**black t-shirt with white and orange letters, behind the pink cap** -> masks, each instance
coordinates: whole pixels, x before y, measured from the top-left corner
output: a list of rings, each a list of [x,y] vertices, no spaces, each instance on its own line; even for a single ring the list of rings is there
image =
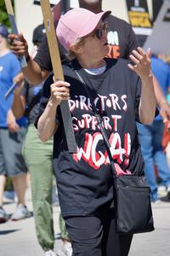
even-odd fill
[[[108,43],[110,45],[110,51],[108,57],[127,59],[132,50],[136,49],[138,46],[132,26],[125,20],[118,19],[113,15],[109,15],[105,20],[109,25]],[[54,26],[57,26],[57,22],[55,22]],[[65,63],[67,60],[67,51],[61,44],[59,44],[59,53],[62,63]],[[49,55],[47,37],[43,38],[40,49],[34,60],[43,69],[49,72],[52,71],[53,68]]]

